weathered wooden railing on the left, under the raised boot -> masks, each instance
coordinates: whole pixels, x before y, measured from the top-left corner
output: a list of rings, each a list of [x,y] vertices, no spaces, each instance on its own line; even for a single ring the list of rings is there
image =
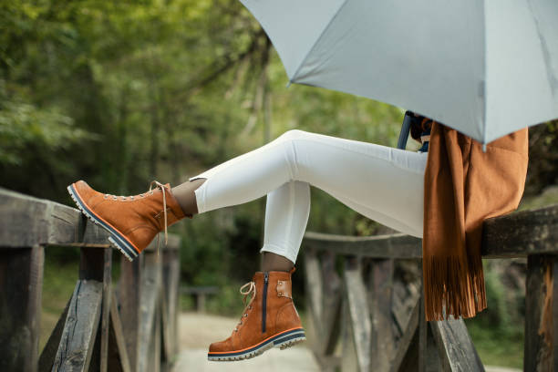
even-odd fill
[[[180,239],[112,285],[106,233],[77,209],[0,189],[0,371],[160,371],[177,354]],[[45,250],[78,247],[78,281],[38,355]],[[47,248],[47,249],[46,249]],[[68,248],[71,249],[71,248]],[[119,254],[119,253],[118,253]]]

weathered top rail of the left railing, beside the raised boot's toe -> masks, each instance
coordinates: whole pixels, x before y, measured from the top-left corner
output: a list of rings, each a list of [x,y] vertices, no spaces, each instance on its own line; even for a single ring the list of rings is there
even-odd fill
[[[0,188],[0,246],[107,246],[107,233],[76,208]]]

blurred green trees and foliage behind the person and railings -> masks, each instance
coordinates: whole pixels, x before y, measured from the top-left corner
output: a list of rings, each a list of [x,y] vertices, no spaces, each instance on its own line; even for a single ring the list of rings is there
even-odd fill
[[[136,194],[151,180],[187,181],[288,129],[397,143],[404,109],[285,88],[273,46],[237,0],[2,1],[0,27],[0,186],[10,190],[72,205],[66,186],[83,179],[98,191]],[[533,127],[530,138],[522,208],[558,202],[558,122]],[[209,311],[240,314],[238,287],[259,264],[264,204],[202,213],[171,229],[182,236],[183,283],[220,287]],[[381,230],[319,189],[311,205],[308,230]],[[77,258],[47,249],[45,322],[56,322],[69,298]],[[468,321],[485,363],[521,367],[524,265],[486,263],[489,309]],[[302,306],[302,275],[294,281]]]

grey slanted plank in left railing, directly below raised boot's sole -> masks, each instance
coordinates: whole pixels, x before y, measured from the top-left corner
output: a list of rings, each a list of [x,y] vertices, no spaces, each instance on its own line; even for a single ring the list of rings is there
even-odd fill
[[[101,312],[103,284],[78,280],[67,312],[53,370],[87,371]]]

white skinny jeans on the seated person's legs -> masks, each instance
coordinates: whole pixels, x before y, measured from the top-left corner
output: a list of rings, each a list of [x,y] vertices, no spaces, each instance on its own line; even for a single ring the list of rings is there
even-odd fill
[[[293,129],[191,177],[198,212],[267,195],[263,247],[295,263],[310,212],[310,185],[364,216],[422,237],[428,153]]]

